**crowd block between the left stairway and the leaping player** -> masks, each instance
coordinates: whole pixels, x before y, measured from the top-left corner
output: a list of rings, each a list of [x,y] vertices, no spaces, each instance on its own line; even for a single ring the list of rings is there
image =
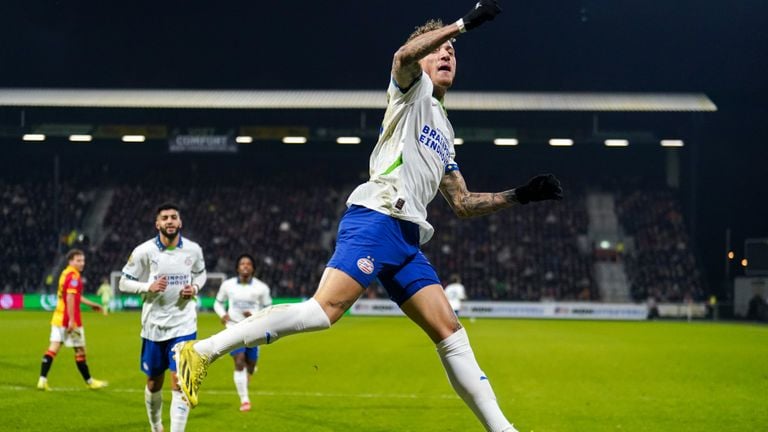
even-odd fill
[[[203,247],[209,272],[232,276],[236,257],[249,253],[257,261],[257,277],[273,295],[306,297],[314,292],[332,248],[329,233],[342,209],[340,199],[335,188],[323,185],[290,190],[251,182],[186,190],[120,186],[104,222],[106,238],[93,251],[86,276],[93,280],[119,271],[132,248],[156,235],[155,208],[171,201],[181,209],[182,235]]]

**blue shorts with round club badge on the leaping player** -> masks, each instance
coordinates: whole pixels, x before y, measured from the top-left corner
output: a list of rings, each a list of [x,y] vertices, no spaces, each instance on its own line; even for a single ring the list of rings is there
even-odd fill
[[[427,285],[440,284],[419,249],[419,226],[357,205],[339,223],[336,250],[328,267],[339,269],[363,288],[378,278],[401,306]]]

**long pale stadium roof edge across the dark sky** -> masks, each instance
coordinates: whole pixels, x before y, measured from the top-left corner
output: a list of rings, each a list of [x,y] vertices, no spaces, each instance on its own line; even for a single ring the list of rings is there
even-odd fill
[[[702,93],[503,93],[453,91],[458,111],[712,112]],[[0,89],[0,107],[171,109],[383,109],[383,91]]]

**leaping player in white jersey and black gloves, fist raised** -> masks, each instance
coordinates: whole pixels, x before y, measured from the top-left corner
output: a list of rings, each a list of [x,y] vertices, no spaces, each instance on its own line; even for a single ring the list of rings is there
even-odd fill
[[[455,23],[430,21],[417,28],[395,53],[388,106],[370,158],[370,180],[347,200],[336,250],[317,291],[306,302],[272,306],[208,339],[177,345],[182,391],[190,406],[198,403],[208,366],[224,353],[326,329],[378,278],[435,343],[451,385],[483,427],[492,432],[516,430],[502,413],[437,273],[420,250],[433,234],[426,207],[438,190],[460,217],[562,198],[552,175],[536,176],[499,193],[470,192],[454,161],[453,128],[442,105],[456,74],[452,40],[500,12],[495,0],[480,0]]]

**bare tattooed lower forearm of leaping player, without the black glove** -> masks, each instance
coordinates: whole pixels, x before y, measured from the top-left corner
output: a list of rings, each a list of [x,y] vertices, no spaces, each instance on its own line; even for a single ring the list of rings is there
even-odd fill
[[[460,218],[482,216],[518,204],[514,189],[503,192],[470,192],[458,170],[443,176],[440,192]]]

